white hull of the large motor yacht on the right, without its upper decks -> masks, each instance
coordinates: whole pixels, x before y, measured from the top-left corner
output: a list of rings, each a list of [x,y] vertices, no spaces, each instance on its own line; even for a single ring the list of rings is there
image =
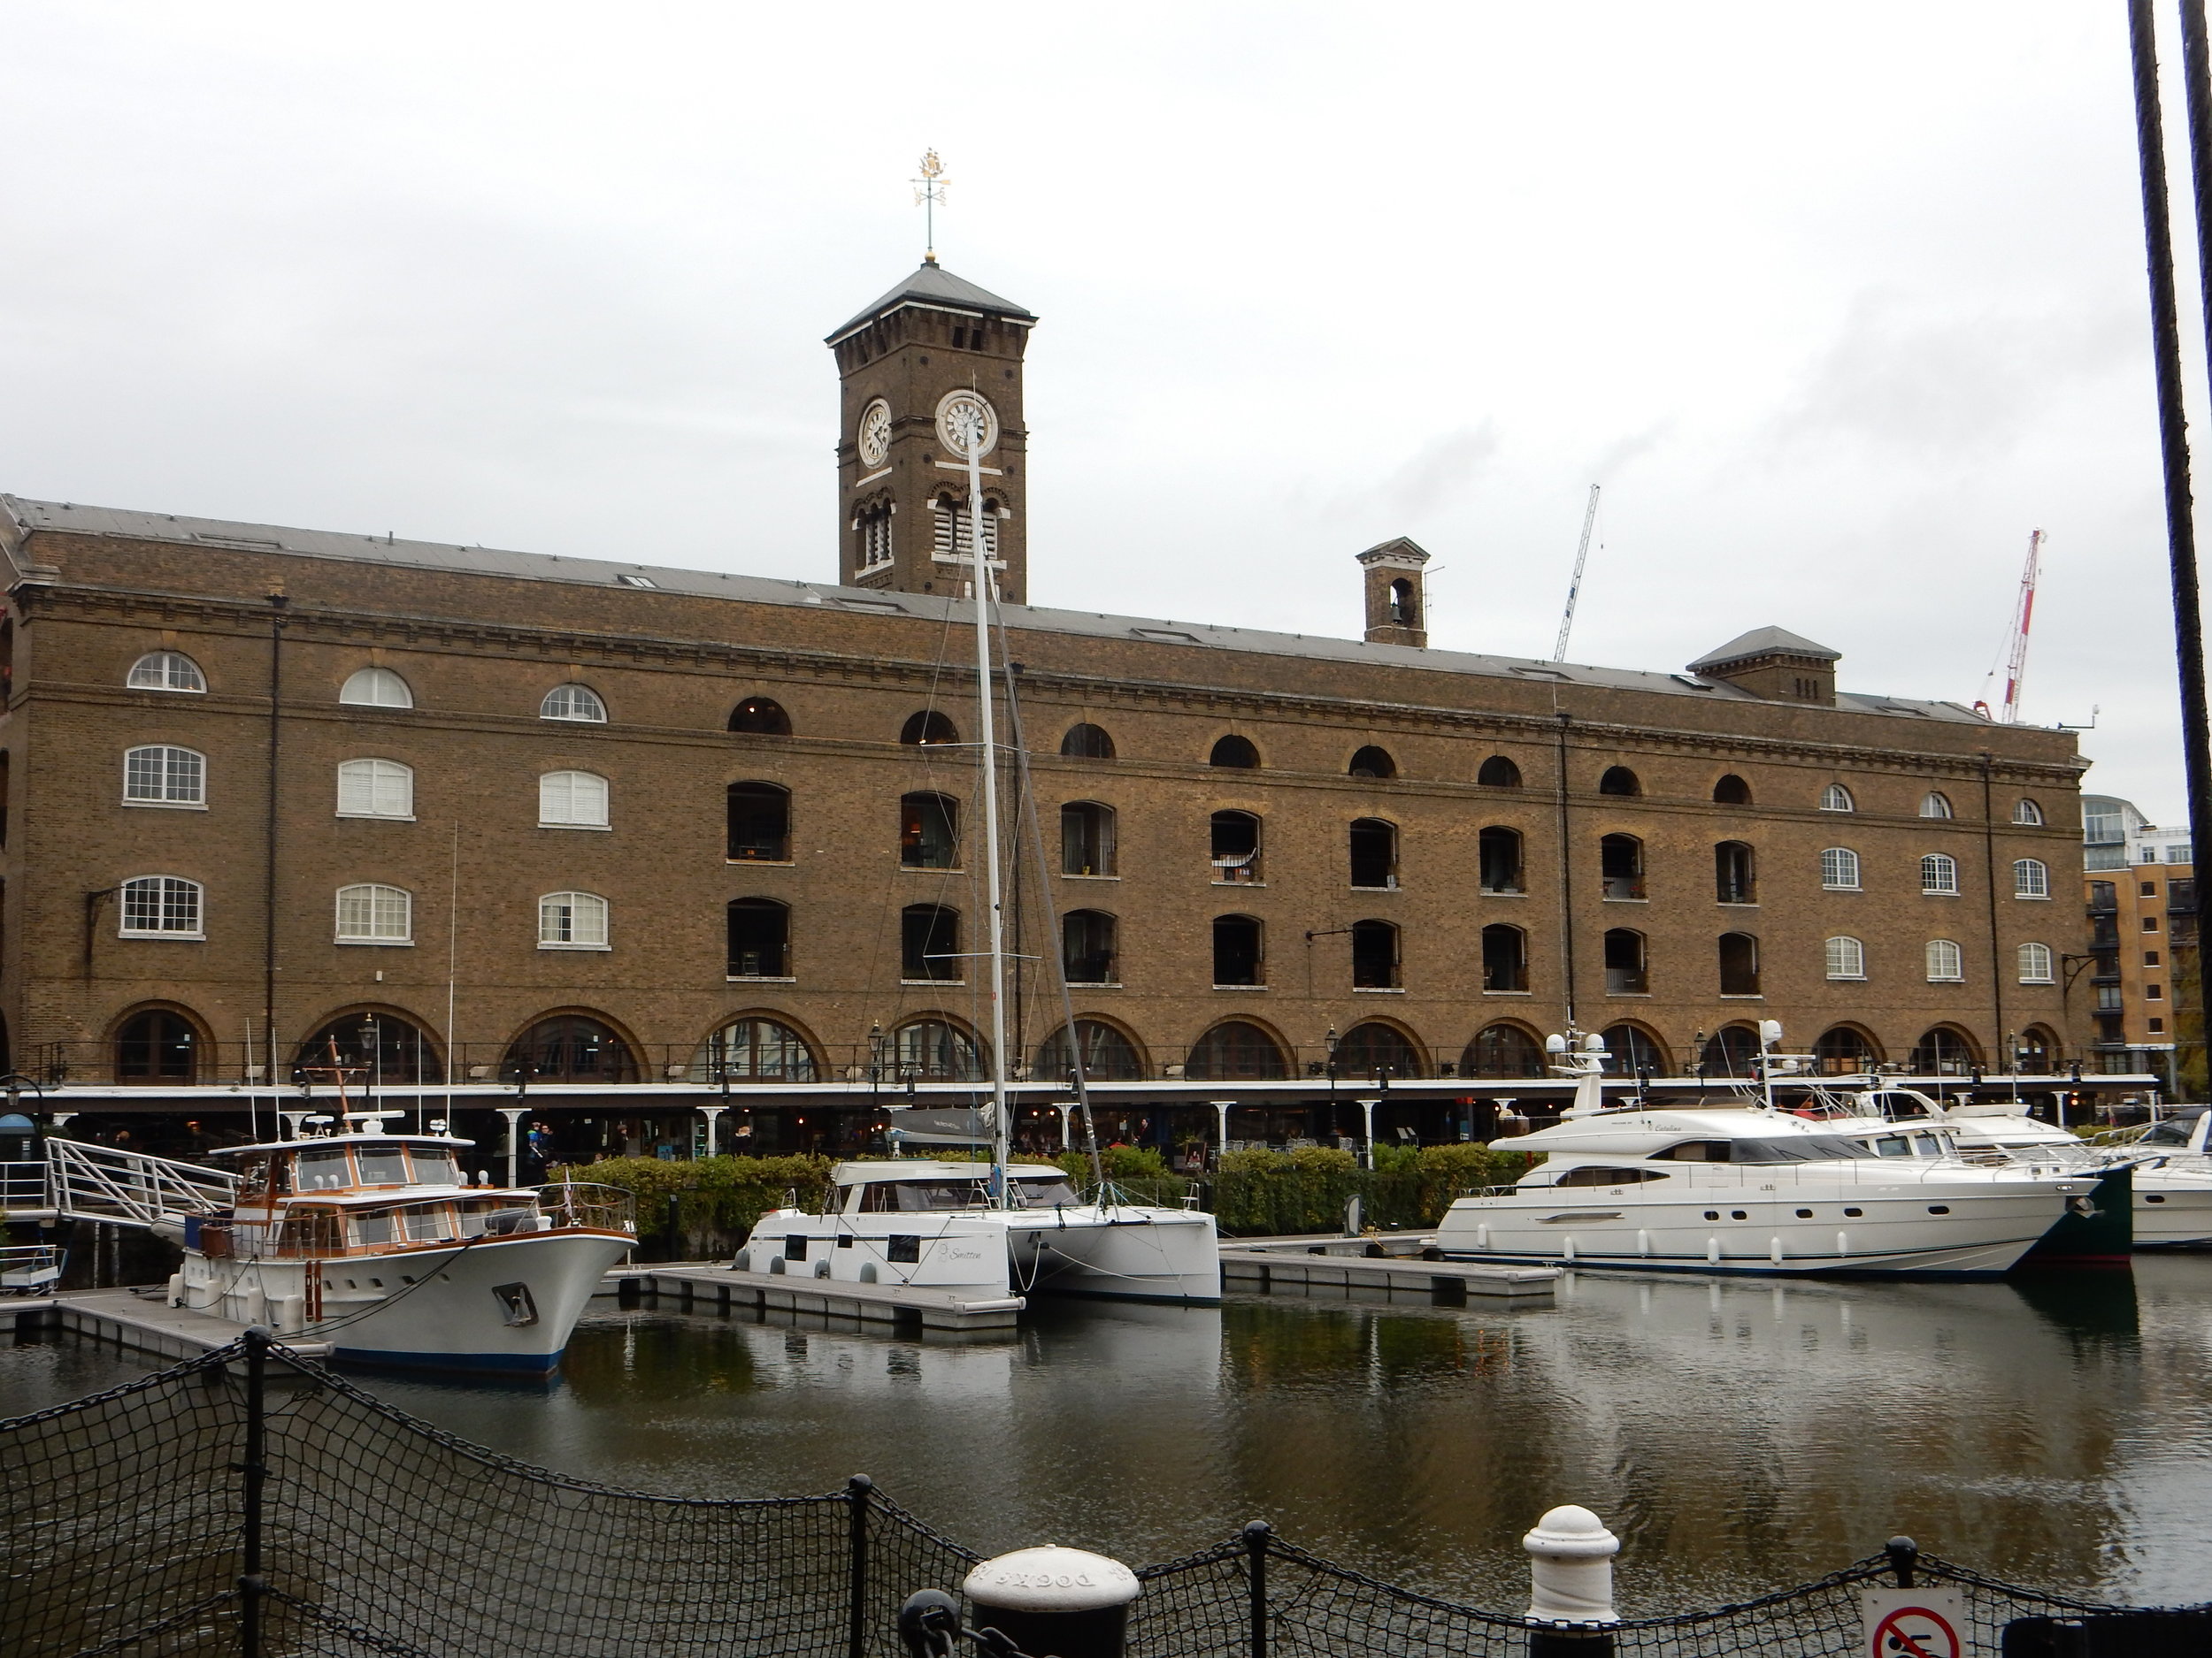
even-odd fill
[[[1679,1194],[1528,1187],[1460,1198],[1436,1234],[1449,1260],[1854,1278],[1997,1278],[2090,1180],[1694,1180]]]

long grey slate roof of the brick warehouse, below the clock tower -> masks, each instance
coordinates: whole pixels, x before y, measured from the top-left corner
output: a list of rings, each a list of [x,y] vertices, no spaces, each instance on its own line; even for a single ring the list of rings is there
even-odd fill
[[[513,553],[493,546],[456,546],[449,542],[400,542],[383,535],[358,535],[345,531],[301,531],[283,524],[237,524],[212,517],[190,517],[184,513],[133,513],[113,506],[80,506],[75,502],[33,502],[15,495],[0,495],[0,513],[24,531],[58,531],[69,535],[115,535],[137,542],[177,542],[184,546],[223,546],[248,553],[292,553],[316,559],[345,559],[349,564],[385,564],[407,570],[453,570],[462,575],[495,575],[522,581],[568,581],[593,588],[653,588],[706,599],[737,599],[741,604],[787,604],[821,606],[830,610],[854,610],[863,615],[907,615],[927,621],[973,621],[964,599],[949,599],[929,592],[883,592],[876,588],[841,588],[830,581],[776,581],[759,575],[730,575],[728,570],[684,570],[664,564],[630,564],[624,559],[580,559],[562,553]],[[1141,639],[1161,646],[1190,646],[1194,650],[1252,650],[1267,657],[1301,657],[1310,661],[1385,663],[1391,668],[1420,668],[1438,674],[1489,674],[1495,679],[1533,679],[1564,685],[1597,685],[1613,690],[1663,692],[1670,696],[1699,696],[1712,703],[1761,703],[1747,690],[1719,679],[1697,674],[1661,674],[1637,668],[1590,668],[1582,663],[1537,661],[1533,657],[1491,657],[1462,650],[1420,650],[1416,646],[1380,646],[1365,639],[1332,639],[1323,634],[1265,632],[1261,628],[1225,628],[1206,621],[1166,621],[1152,617],[1121,617],[1104,610],[1053,610],[1046,606],[1004,606],[1004,623],[1011,630],[1060,632],[1091,639]],[[1781,628],[1763,628],[1743,639],[1778,634],[1796,641]],[[1730,650],[1741,646],[1739,639]],[[1812,641],[1798,646],[1827,657],[1836,652]],[[1798,648],[1792,646],[1792,648]],[[1725,659],[1725,657],[1723,657]],[[1192,665],[1190,679],[1201,681],[1206,670]],[[1964,721],[1982,725],[1973,710],[1962,703],[1922,703],[1902,696],[1867,696],[1836,692],[1836,707],[1858,714],[1911,714],[1918,718]]]

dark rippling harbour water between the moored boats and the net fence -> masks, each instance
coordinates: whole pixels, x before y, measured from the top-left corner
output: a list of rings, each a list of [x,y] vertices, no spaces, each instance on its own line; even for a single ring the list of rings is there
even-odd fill
[[[1520,1534],[1562,1501],[1621,1534],[1628,1612],[1783,1587],[1893,1532],[2126,1601],[2212,1581],[2212,1258],[2000,1284],[1573,1273],[1520,1309],[1048,1304],[1011,1337],[942,1342],[599,1309],[546,1386],[363,1382],[637,1490],[867,1472],[984,1552],[1130,1563],[1261,1517],[1509,1609]],[[69,1337],[0,1346],[0,1415],[139,1373]]]

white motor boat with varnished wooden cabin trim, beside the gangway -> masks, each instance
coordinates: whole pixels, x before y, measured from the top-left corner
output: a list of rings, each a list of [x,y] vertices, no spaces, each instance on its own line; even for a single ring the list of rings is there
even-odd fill
[[[223,1218],[157,1222],[184,1245],[170,1307],[330,1342],[356,1364],[542,1375],[608,1267],[637,1240],[630,1196],[604,1185],[469,1185],[471,1141],[345,1132],[237,1145]],[[327,1123],[330,1119],[310,1119]]]

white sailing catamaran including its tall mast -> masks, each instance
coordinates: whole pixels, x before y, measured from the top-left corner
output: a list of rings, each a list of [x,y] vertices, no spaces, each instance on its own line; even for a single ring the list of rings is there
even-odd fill
[[[982,522],[982,449],[987,411],[980,400],[947,398],[938,416],[947,447],[969,473],[971,522]],[[825,1214],[776,1209],[761,1216],[734,1265],[752,1271],[801,1271],[814,1278],[951,1289],[980,1300],[1057,1291],[1117,1300],[1221,1300],[1221,1249],[1214,1218],[1199,1209],[1117,1203],[1097,1161],[1082,1057],[1075,1054],[1075,1103],[1091,1150],[1095,1196],[1079,1200],[1053,1165],[1018,1165],[1006,1101],[1006,942],[998,831],[998,736],[991,670],[991,562],[982,535],[971,537],[969,588],[975,604],[975,730],[982,798],[984,937],[982,966],[991,1019],[989,1163],[854,1161],[832,1174]],[[1011,690],[1009,690],[1011,696]],[[1035,814],[1031,814],[1033,818]],[[1046,906],[1051,898],[1046,893]],[[1046,915],[1046,931],[1057,933]],[[1066,984],[1060,986],[1066,997]],[[1068,1028],[1073,1006],[1064,1008]]]

